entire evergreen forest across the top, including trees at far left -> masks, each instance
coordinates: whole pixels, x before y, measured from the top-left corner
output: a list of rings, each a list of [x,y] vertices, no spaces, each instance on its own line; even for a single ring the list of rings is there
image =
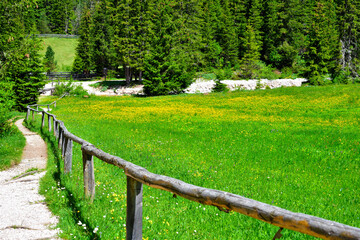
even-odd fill
[[[73,71],[144,79],[148,95],[179,93],[199,72],[359,77],[360,0],[1,0],[0,24],[1,109],[37,101],[36,33],[80,35]]]

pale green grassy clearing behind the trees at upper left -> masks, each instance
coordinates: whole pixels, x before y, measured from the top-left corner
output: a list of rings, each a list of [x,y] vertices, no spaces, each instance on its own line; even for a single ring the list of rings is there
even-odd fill
[[[55,52],[55,61],[57,61],[57,72],[71,71],[75,58],[78,39],[74,38],[41,38],[44,42],[44,48],[40,52],[45,56],[46,48],[51,46]]]

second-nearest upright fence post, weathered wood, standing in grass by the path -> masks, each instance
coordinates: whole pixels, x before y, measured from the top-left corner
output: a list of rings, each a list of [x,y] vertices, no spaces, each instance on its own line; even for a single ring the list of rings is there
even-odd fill
[[[92,155],[87,154],[83,149],[83,175],[84,175],[84,193],[85,198],[92,202],[95,196],[95,175],[94,175],[94,159]]]

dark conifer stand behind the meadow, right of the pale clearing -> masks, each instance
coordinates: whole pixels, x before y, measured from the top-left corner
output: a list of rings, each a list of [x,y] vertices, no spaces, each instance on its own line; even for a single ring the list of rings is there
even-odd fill
[[[90,47],[78,56],[90,70],[123,72],[128,83],[144,75],[153,94],[181,91],[195,71],[256,77],[265,64],[325,84],[358,77],[359,2],[99,0],[79,28]]]

